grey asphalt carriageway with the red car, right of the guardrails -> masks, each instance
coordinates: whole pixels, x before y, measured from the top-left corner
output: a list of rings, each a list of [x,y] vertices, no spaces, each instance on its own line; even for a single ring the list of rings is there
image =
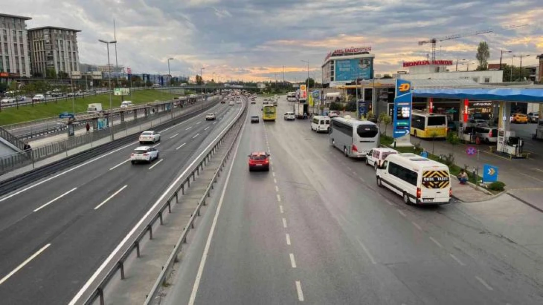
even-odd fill
[[[283,121],[291,107],[245,125],[166,304],[543,303],[538,259],[454,204],[403,204],[309,120]],[[251,151],[271,153],[269,172],[248,171]]]

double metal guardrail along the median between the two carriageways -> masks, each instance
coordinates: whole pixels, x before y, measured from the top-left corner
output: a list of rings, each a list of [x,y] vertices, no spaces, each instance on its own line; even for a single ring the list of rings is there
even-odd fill
[[[237,129],[237,131],[236,131],[235,138],[234,138],[234,141],[233,141],[233,142],[236,142],[236,139],[237,139],[237,137],[239,135],[239,130],[241,130],[241,126],[243,125],[243,122],[244,122],[244,120],[242,118],[244,118],[244,116],[247,115],[247,112],[248,112],[248,106],[247,106],[247,103],[246,103],[244,105],[243,111],[237,116],[237,118],[234,121],[231,122],[231,125],[230,125],[230,127],[228,127],[228,130],[225,129],[225,131],[223,131],[223,135],[220,137],[220,139],[216,140],[216,143],[213,145],[213,147],[209,148],[209,151],[206,153],[206,155],[204,157],[200,158],[199,163],[197,165],[193,166],[193,168],[190,170],[190,172],[187,172],[188,174],[185,175],[186,177],[184,177],[184,179],[182,179],[183,182],[176,187],[175,191],[168,197],[167,200],[165,200],[162,203],[160,208],[157,209],[157,211],[152,214],[153,216],[151,216],[150,218],[148,217],[149,219],[147,219],[146,221],[144,221],[142,223],[142,225],[140,225],[139,230],[136,231],[136,232],[139,232],[139,233],[135,234],[134,237],[130,238],[130,242],[127,242],[124,245],[123,250],[119,251],[118,258],[111,261],[113,263],[110,263],[111,266],[109,267],[108,271],[104,275],[102,275],[102,280],[100,280],[99,283],[94,284],[94,287],[92,289],[90,289],[90,291],[92,291],[92,293],[90,293],[86,298],[83,298],[83,300],[85,300],[84,304],[90,305],[90,304],[94,303],[94,301],[96,301],[97,298],[99,298],[100,305],[105,305],[104,289],[105,289],[106,285],[108,285],[108,283],[111,281],[113,276],[115,276],[117,274],[117,271],[121,272],[121,279],[122,280],[125,279],[124,262],[128,259],[128,257],[132,254],[132,252],[134,250],[136,250],[137,257],[140,257],[140,255],[141,255],[140,242],[141,242],[142,238],[145,237],[147,235],[147,233],[149,233],[149,239],[153,239],[153,225],[156,223],[157,220],[160,220],[160,224],[163,225],[163,213],[165,212],[166,208],[168,209],[169,213],[172,212],[172,203],[173,203],[173,201],[175,200],[176,204],[179,203],[180,194],[181,195],[185,194],[186,187],[190,187],[190,185],[191,185],[191,179],[192,179],[192,181],[194,181],[196,179],[196,176],[197,175],[199,176],[200,171],[202,171],[204,169],[204,166],[211,160],[212,155],[217,153],[220,146],[222,144],[224,144],[224,142],[226,140],[226,137],[229,134],[231,134],[232,131],[234,131],[235,126],[239,127]],[[227,156],[230,155],[231,147],[229,148],[228,152],[226,153]],[[219,166],[219,169],[217,170],[216,175],[213,177],[213,181],[216,181],[216,178],[218,177],[217,173],[220,173],[220,171],[222,171],[221,168],[224,167],[225,160],[227,158],[228,157],[226,157],[226,156],[225,156],[225,158],[223,158],[221,166]],[[211,183],[207,187],[206,194],[203,196],[204,200],[203,201],[200,200],[200,203],[198,204],[197,210],[191,216],[191,220],[190,220],[190,223],[189,223],[189,226],[191,228],[194,228],[195,215],[196,214],[197,214],[197,216],[200,215],[200,207],[202,205],[205,205],[205,198],[207,196],[210,196],[210,190],[212,190],[212,189],[213,189],[213,183]],[[187,228],[188,228],[188,226],[187,226]],[[185,231],[183,233],[183,236],[185,236],[185,238],[182,239],[183,242],[186,241],[186,234],[188,232],[187,228],[185,228]],[[180,245],[179,246],[176,245],[176,249],[180,249]],[[168,265],[168,266],[171,267],[170,265]],[[166,268],[163,268],[163,269],[166,269]],[[89,290],[87,290],[87,291],[89,291]],[[148,300],[149,300],[149,298],[148,298]]]

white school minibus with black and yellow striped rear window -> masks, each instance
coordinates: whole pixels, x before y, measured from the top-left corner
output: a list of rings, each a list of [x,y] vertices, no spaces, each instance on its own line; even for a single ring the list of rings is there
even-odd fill
[[[449,167],[414,153],[390,154],[377,168],[378,186],[386,186],[406,204],[447,204],[451,200]]]

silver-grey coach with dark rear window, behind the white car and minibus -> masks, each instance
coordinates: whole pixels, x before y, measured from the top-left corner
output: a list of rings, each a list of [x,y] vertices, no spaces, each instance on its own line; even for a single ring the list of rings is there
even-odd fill
[[[374,122],[353,119],[349,115],[332,118],[330,142],[346,157],[365,158],[372,148],[379,146],[379,128]]]

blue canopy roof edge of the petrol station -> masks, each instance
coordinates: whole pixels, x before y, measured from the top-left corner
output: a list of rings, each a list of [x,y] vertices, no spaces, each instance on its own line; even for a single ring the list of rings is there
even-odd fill
[[[543,103],[543,89],[415,88],[413,89],[413,95],[418,98],[444,98],[444,99],[469,99],[469,100]]]

